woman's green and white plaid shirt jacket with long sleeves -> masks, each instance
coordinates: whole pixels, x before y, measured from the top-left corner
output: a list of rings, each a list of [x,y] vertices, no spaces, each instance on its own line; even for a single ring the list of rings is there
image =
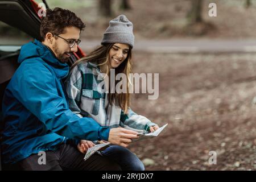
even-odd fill
[[[108,93],[101,89],[102,81],[100,67],[96,64],[83,63],[72,69],[65,88],[73,113],[80,117],[92,117],[101,126],[121,126],[138,133],[147,133],[150,126],[156,125],[130,108],[125,114],[118,105],[108,104]]]

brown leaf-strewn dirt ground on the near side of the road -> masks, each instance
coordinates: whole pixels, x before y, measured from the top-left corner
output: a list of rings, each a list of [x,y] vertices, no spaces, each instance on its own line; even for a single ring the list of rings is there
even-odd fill
[[[133,94],[132,109],[168,123],[157,138],[129,146],[154,161],[147,170],[256,169],[255,56],[134,53],[134,72],[159,73],[159,98]]]

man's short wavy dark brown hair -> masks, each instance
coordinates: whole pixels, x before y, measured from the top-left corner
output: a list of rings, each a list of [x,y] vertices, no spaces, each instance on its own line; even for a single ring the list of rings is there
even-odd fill
[[[46,16],[43,16],[40,25],[40,35],[42,41],[46,38],[47,32],[53,34],[63,34],[65,27],[77,27],[84,30],[85,24],[76,16],[75,13],[69,10],[55,7],[55,9],[47,9]]]

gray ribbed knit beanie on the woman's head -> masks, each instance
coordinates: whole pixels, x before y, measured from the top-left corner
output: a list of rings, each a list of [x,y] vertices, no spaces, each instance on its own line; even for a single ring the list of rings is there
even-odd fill
[[[104,43],[128,44],[132,48],[134,45],[133,23],[125,15],[119,15],[110,20],[109,27],[103,34],[101,44]]]

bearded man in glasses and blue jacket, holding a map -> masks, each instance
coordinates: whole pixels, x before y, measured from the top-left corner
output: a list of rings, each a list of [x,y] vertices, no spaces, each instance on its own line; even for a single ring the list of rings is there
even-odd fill
[[[3,96],[5,127],[1,151],[6,169],[22,170],[119,170],[118,164],[94,154],[87,140],[108,140],[125,145],[137,132],[102,127],[92,118],[80,118],[68,108],[63,78],[68,76],[68,57],[77,51],[85,24],[75,13],[55,8],[42,19],[42,42],[22,46],[19,68]],[[40,151],[46,164],[39,163]]]

